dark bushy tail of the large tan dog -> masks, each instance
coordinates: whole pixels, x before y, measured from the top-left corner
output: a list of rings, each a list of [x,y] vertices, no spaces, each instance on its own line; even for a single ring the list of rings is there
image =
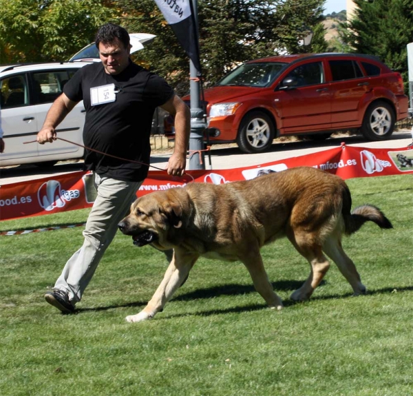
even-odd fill
[[[346,235],[359,231],[366,221],[375,222],[380,228],[393,228],[390,220],[385,217],[384,213],[373,205],[361,205],[350,212],[351,195],[348,187],[343,191],[343,218]]]

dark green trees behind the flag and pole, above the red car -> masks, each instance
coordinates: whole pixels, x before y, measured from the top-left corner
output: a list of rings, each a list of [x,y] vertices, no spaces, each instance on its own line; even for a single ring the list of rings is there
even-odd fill
[[[324,0],[198,0],[200,52],[204,81],[211,85],[236,65],[279,52],[312,52],[299,45],[317,30],[317,48]],[[151,70],[165,76],[178,92],[189,86],[189,59],[153,0],[118,0],[129,32],[157,38],[137,53]]]

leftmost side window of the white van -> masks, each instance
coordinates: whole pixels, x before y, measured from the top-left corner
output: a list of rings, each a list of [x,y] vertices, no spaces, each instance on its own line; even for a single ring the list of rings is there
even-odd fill
[[[27,106],[29,103],[28,84],[25,74],[14,74],[0,81],[2,109]]]

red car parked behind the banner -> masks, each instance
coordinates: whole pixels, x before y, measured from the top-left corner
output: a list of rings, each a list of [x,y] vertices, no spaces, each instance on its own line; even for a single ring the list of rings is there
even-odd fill
[[[408,107],[400,73],[375,56],[336,53],[246,62],[204,100],[211,143],[236,142],[246,153],[264,152],[279,136],[323,139],[348,129],[385,140]]]

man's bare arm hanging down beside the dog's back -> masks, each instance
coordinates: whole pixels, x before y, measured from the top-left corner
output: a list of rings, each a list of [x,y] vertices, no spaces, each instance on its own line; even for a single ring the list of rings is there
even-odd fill
[[[191,132],[191,112],[189,107],[178,96],[173,95],[163,110],[175,116],[175,148],[168,161],[167,171],[169,175],[182,176],[187,165],[187,150],[189,144],[189,133]]]

